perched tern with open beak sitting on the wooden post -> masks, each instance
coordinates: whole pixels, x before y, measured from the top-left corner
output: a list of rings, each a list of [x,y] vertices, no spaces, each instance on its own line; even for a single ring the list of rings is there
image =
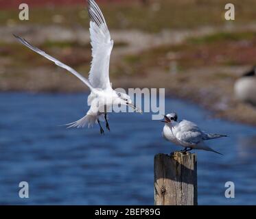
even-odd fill
[[[195,123],[188,120],[182,120],[179,123],[178,116],[174,112],[167,114],[164,118],[165,120],[162,122],[165,123],[165,126],[163,127],[162,136],[165,140],[185,147],[184,152],[199,149],[213,151],[221,155],[218,151],[214,151],[207,146],[204,141],[226,137],[225,135],[205,133]]]

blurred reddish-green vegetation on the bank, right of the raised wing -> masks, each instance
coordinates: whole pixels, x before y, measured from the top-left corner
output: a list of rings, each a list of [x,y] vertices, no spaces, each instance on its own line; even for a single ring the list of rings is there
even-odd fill
[[[253,47],[255,45],[255,47]],[[137,55],[126,55],[123,62],[133,69],[159,67],[170,71],[207,66],[235,66],[255,63],[256,32],[220,32],[198,38],[188,38],[183,44],[163,45]],[[142,71],[142,70],[141,70]],[[219,75],[224,77],[224,75]]]

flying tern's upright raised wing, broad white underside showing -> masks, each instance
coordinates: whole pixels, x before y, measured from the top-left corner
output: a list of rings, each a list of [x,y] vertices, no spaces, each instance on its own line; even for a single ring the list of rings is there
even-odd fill
[[[94,0],[88,0],[90,21],[90,36],[93,60],[89,81],[93,88],[108,89],[109,81],[109,62],[113,48],[113,40],[110,38],[106,21],[100,8]]]

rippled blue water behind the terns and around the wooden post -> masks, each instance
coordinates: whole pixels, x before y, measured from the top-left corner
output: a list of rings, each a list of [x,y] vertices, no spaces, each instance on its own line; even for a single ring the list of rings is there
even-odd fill
[[[110,132],[65,129],[82,117],[86,94],[0,93],[0,204],[153,205],[156,153],[176,149],[161,138],[163,123],[151,114],[110,114]],[[198,154],[198,204],[256,204],[256,129],[213,119],[200,107],[176,99],[178,112],[209,132],[229,138],[209,145],[224,156]],[[30,198],[19,198],[27,181]],[[235,183],[235,198],[224,184]]]

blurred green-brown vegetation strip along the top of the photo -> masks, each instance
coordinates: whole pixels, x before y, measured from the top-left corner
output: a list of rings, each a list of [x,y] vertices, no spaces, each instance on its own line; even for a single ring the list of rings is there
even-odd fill
[[[256,1],[233,0],[235,4],[235,23],[244,24],[255,21]],[[162,0],[148,5],[138,2],[102,3],[110,29],[140,29],[157,32],[162,29],[187,29],[199,26],[223,25],[224,0]],[[89,27],[89,19],[85,5],[69,5],[69,7],[31,8],[30,21],[19,21],[18,8],[16,10],[1,10],[0,25],[13,23],[49,25],[58,23],[74,27],[82,25]]]

